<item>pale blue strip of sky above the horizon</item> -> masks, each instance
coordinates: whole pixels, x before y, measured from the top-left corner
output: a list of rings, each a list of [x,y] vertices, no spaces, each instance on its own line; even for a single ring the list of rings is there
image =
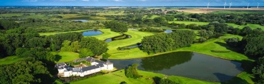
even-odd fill
[[[264,6],[264,0],[0,0],[0,6]]]

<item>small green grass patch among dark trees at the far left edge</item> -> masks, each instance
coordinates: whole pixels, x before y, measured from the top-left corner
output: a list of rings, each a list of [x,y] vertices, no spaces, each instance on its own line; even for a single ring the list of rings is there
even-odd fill
[[[17,57],[17,56],[8,56],[6,58],[0,59],[0,65],[15,63],[21,59],[24,59],[24,58]]]

